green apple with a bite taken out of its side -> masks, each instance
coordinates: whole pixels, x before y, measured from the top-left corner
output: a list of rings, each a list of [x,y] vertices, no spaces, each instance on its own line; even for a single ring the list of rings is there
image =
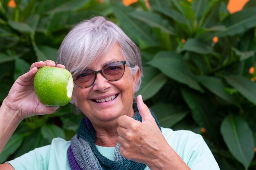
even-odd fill
[[[64,106],[70,102],[73,78],[60,67],[43,66],[34,77],[34,89],[39,101],[46,106]]]

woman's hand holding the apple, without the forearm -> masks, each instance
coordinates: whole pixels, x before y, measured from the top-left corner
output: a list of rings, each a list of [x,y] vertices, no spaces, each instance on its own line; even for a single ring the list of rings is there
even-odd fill
[[[55,62],[47,60],[45,62],[33,63],[29,72],[18,77],[11,87],[9,94],[4,99],[4,104],[16,113],[20,120],[33,115],[51,114],[58,108],[45,106],[36,97],[34,91],[34,75],[38,71],[38,68],[43,66],[55,67]],[[58,64],[57,67],[65,68],[62,64]]]

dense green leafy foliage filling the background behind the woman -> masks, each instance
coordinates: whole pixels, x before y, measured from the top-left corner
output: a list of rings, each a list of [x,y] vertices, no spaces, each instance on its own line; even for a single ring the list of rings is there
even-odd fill
[[[103,15],[139,46],[144,79],[138,94],[163,127],[200,133],[220,169],[256,168],[256,0],[230,14],[227,0],[0,0],[0,102],[39,60],[56,61],[70,28]],[[218,42],[212,38],[217,36]],[[252,81],[253,80],[253,81]],[[0,161],[53,137],[70,140],[81,117],[69,105],[22,121]],[[200,131],[204,128],[206,131]]]

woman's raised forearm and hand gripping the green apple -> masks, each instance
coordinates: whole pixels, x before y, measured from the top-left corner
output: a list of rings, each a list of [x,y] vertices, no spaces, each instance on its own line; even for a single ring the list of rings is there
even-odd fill
[[[33,115],[52,114],[58,107],[45,106],[39,102],[34,91],[34,75],[38,68],[55,66],[55,62],[35,62],[29,72],[21,75],[14,82],[9,94],[0,107],[0,153],[20,122]],[[58,67],[65,66],[58,64]]]

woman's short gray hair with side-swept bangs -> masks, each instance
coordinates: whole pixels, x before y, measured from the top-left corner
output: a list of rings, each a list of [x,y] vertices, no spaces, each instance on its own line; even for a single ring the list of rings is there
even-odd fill
[[[118,43],[125,60],[130,63],[134,75],[140,68],[135,87],[139,91],[142,73],[141,55],[138,47],[115,23],[98,16],[77,24],[64,38],[58,49],[57,62],[71,73],[81,71],[92,62],[103,58]]]

